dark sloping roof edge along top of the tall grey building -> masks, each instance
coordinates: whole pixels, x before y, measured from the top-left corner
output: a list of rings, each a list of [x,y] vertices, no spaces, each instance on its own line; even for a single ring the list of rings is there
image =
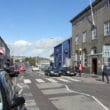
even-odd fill
[[[93,3],[92,3],[92,6],[96,6],[98,3],[100,3],[102,0],[95,0]],[[84,13],[86,13],[88,10],[90,10],[91,7],[90,5],[87,6],[83,11],[81,11],[78,15],[76,15],[73,19],[70,20],[70,22],[72,23],[73,21],[75,21],[76,19],[78,19],[81,15],[83,15]]]

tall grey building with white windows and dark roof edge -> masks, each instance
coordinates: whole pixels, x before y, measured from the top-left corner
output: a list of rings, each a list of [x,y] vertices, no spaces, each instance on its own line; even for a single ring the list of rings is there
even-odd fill
[[[99,73],[103,62],[110,64],[110,0],[95,0],[92,8],[88,6],[70,22],[72,63],[82,63],[84,72]]]

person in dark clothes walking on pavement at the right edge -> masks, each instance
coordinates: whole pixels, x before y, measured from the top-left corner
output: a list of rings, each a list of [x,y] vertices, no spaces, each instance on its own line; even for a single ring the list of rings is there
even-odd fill
[[[109,83],[109,70],[106,64],[102,64],[102,81],[104,81],[104,77],[106,77],[107,83]]]

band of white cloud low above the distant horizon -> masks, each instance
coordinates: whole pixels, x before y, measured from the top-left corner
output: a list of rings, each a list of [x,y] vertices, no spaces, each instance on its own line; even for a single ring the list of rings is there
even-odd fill
[[[18,40],[7,43],[11,55],[48,57],[53,53],[53,47],[63,41],[62,38],[45,38],[35,42]]]

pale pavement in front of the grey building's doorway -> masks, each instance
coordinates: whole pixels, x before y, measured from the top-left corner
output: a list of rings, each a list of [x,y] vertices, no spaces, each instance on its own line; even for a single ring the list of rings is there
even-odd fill
[[[81,80],[82,82],[85,82],[85,83],[107,84],[106,78],[105,78],[105,82],[103,82],[101,75],[82,73],[81,77],[76,75],[76,76],[74,76],[74,78]]]

